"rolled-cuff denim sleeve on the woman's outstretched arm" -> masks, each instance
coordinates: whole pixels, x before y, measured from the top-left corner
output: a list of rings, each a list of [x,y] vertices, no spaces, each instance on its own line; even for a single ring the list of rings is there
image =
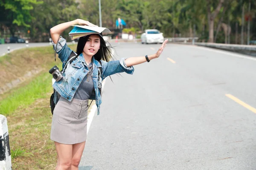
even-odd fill
[[[102,62],[102,79],[105,79],[106,77],[116,74],[116,73],[122,73],[125,72],[127,74],[133,74],[134,73],[134,67],[127,67],[125,64],[126,58],[121,58],[120,60],[116,61],[101,61]]]

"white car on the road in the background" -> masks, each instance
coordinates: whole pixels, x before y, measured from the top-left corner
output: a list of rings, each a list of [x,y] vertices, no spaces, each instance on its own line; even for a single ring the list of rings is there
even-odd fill
[[[143,34],[141,34],[141,43],[163,43],[163,33],[157,29],[146,29]]]

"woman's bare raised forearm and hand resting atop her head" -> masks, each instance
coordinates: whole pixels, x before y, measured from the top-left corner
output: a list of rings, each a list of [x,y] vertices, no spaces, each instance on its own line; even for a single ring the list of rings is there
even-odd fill
[[[73,26],[73,25],[76,25],[76,24],[79,24],[81,26],[96,26],[92,23],[90,23],[89,21],[85,21],[85,20],[81,20],[81,19],[76,19],[76,20],[73,20],[73,21],[70,21],[70,22],[67,22],[67,23],[61,23],[57,26],[54,26],[50,29],[50,33],[51,33],[51,37],[52,37],[52,41],[56,44],[61,33],[63,31],[65,31],[65,29],[69,28],[70,26]]]

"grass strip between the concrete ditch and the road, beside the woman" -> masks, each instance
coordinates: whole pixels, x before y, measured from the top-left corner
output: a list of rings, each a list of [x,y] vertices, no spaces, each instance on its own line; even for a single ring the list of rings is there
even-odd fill
[[[50,140],[51,75],[42,73],[1,101],[7,117],[13,170],[53,170],[54,142]]]

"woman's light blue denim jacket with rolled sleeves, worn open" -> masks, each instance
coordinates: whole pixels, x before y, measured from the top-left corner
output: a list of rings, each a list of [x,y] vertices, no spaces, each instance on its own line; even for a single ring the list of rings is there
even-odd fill
[[[56,50],[56,44],[52,42],[54,50]],[[67,46],[66,40],[61,37],[61,40],[58,42],[57,50],[58,57],[61,59],[62,68],[67,62],[68,57],[70,56],[72,50]],[[116,74],[116,73],[134,73],[134,67],[127,67],[125,65],[125,59],[121,58],[120,60],[106,62],[101,60],[102,65],[92,57],[93,63],[93,86],[94,92],[90,96],[90,99],[95,99],[96,105],[98,108],[98,115],[100,111],[100,105],[102,103],[101,94],[99,87],[101,87],[102,80],[106,77]],[[84,57],[81,53],[71,64],[67,64],[67,68],[63,73],[63,78],[58,82],[54,82],[52,87],[60,94],[62,97],[71,102],[76,93],[77,88],[79,87],[81,81],[88,74],[89,69],[84,65]],[[102,67],[101,77],[98,76],[99,68]]]

